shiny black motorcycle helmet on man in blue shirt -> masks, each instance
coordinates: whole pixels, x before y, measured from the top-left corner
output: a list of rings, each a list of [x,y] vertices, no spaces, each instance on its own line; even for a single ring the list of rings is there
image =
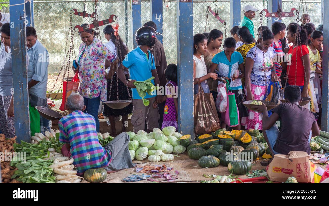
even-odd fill
[[[140,27],[136,32],[136,42],[138,45],[147,45],[147,46],[154,46],[155,43],[155,36],[160,33],[157,33],[152,27],[150,26],[143,26]]]

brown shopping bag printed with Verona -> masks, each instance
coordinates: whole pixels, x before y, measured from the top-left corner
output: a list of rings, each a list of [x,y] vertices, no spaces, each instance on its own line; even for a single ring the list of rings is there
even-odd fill
[[[211,93],[204,93],[199,84],[199,93],[194,95],[194,131],[205,134],[220,128],[215,101]]]

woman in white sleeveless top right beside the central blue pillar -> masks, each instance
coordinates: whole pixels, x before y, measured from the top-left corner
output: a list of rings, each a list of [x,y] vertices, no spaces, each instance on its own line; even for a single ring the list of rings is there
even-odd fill
[[[203,54],[207,52],[207,37],[203,34],[195,34],[193,36],[193,78],[194,78],[194,94],[199,92],[199,83],[204,93],[210,93],[207,79],[217,80],[215,73],[207,74],[207,67]]]

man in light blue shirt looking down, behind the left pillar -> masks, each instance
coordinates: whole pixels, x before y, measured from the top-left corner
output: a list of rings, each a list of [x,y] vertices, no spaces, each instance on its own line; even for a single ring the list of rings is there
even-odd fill
[[[47,81],[48,81],[48,51],[39,42],[37,32],[33,27],[26,27],[26,47],[29,57],[27,81],[29,87],[30,105],[47,107]],[[31,122],[33,120],[30,120]],[[48,129],[48,130],[47,130]],[[49,120],[40,116],[40,131],[49,131]]]

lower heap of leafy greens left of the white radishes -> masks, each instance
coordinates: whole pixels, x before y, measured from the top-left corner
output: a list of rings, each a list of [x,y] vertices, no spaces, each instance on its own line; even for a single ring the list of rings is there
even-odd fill
[[[23,183],[55,183],[53,169],[49,166],[53,164],[53,160],[34,159],[28,160],[25,163],[17,163],[12,178],[17,178]]]

